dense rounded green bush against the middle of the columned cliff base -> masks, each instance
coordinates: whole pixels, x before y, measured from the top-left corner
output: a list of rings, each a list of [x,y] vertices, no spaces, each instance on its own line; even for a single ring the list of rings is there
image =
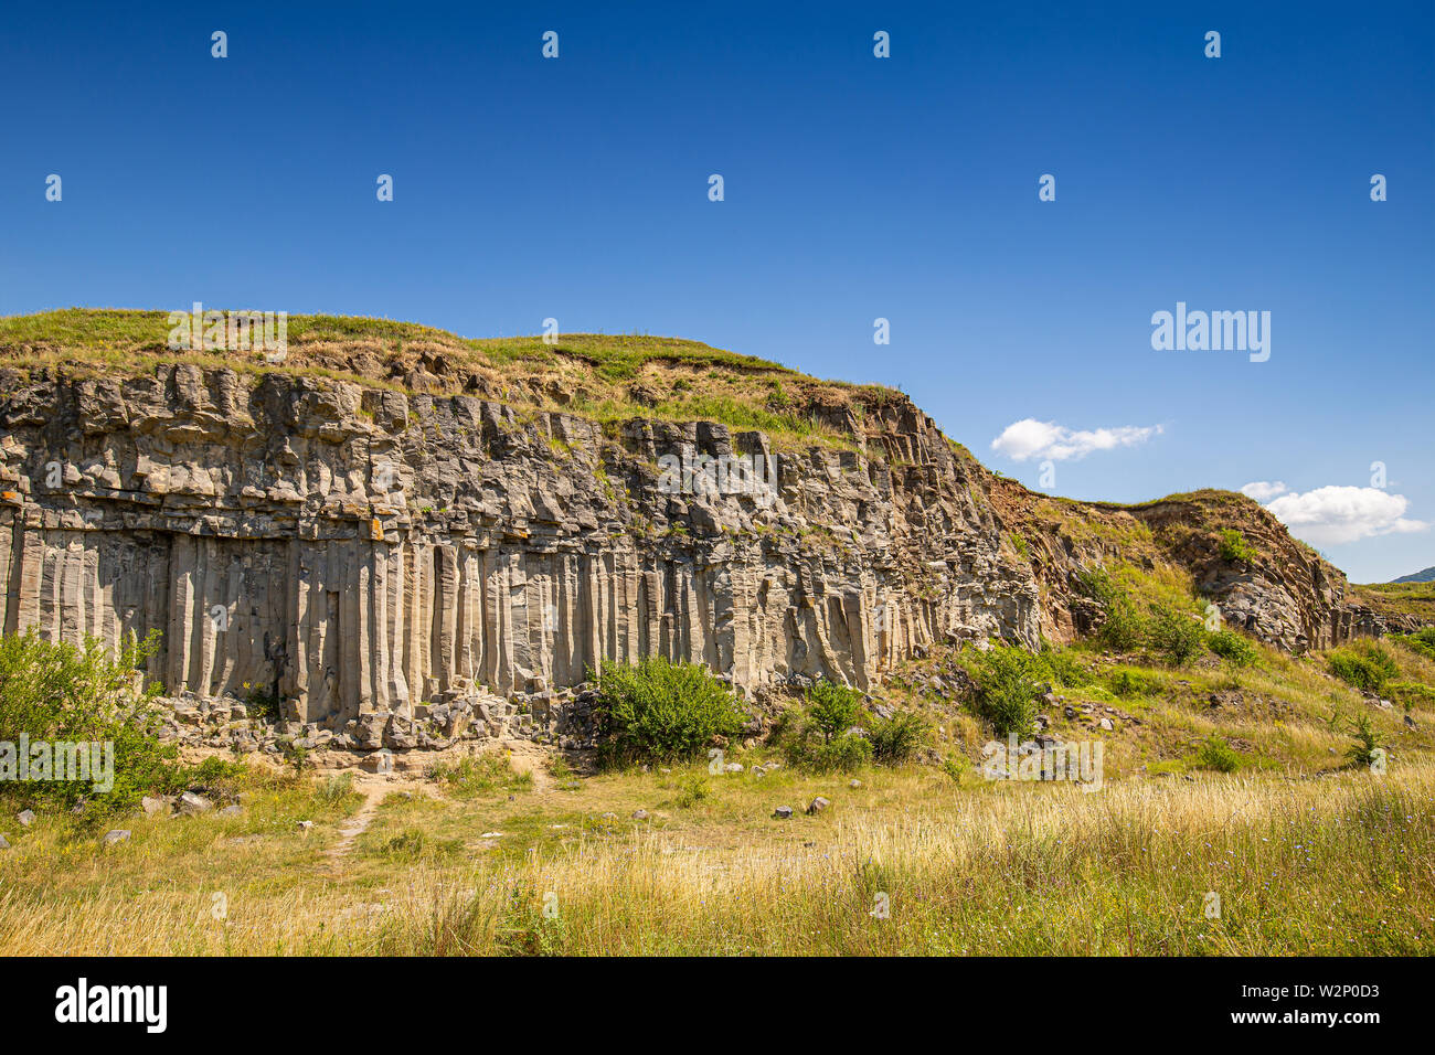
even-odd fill
[[[607,660],[596,680],[598,759],[607,766],[692,761],[746,722],[732,690],[700,663]]]

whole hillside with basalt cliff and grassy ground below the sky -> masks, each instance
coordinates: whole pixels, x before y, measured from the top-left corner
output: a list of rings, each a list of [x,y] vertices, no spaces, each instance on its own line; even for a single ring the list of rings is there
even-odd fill
[[[690,342],[165,322],[0,320],[0,725],[129,736],[0,781],[0,953],[1431,952],[1435,584]],[[730,735],[604,765],[650,656]]]

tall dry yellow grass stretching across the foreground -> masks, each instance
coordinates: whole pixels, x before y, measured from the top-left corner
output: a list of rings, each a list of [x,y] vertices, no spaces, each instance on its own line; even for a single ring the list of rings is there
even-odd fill
[[[102,850],[50,822],[0,860],[0,955],[1435,952],[1429,761],[1089,794],[916,769],[850,794],[789,777],[785,801],[821,789],[835,805],[786,822],[766,818],[769,785],[718,778],[663,827],[597,815],[673,779],[600,777],[466,812],[390,798],[337,877],[321,853],[353,802],[304,838],[288,824],[314,794],[301,785],[247,807],[263,844],[189,818],[135,821]],[[517,843],[472,841],[494,822]],[[396,831],[430,835],[403,854]]]

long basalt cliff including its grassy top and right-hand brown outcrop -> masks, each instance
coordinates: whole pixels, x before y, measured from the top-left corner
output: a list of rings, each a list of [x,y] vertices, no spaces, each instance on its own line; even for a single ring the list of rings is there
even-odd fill
[[[472,699],[551,732],[600,662],[649,655],[746,696],[872,689],[936,642],[1081,633],[1079,574],[1118,560],[1184,568],[1292,650],[1392,619],[1238,495],[1049,498],[900,392],[706,346],[311,320],[265,362],[171,353],[162,313],[72,314],[0,320],[4,632],[158,630],[166,695],[273,698],[359,745]],[[771,487],[700,471],[745,461]],[[1256,558],[1221,558],[1228,525]]]

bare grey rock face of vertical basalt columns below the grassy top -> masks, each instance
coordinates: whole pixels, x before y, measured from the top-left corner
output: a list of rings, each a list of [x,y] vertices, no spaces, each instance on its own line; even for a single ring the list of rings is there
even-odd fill
[[[773,452],[284,373],[0,370],[3,629],[159,630],[168,693],[333,731],[604,659],[870,688],[934,640],[1035,646],[1036,578],[984,481],[910,403],[864,429]],[[776,458],[775,494],[670,494],[659,459],[683,454]]]

